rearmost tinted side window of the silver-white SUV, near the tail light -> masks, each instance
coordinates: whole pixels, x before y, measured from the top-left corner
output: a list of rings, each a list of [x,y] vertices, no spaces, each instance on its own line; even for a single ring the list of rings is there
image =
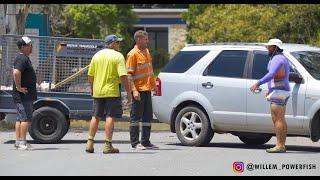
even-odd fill
[[[183,73],[198,62],[209,51],[180,51],[163,68],[162,72]]]

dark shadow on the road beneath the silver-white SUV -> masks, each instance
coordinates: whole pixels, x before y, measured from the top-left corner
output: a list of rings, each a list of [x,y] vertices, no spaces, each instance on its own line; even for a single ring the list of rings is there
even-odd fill
[[[183,146],[181,143],[172,143],[166,145]],[[187,146],[185,146],[187,147]],[[246,145],[244,143],[210,143],[204,147],[215,147],[215,148],[234,148],[234,149],[268,149],[274,147],[274,145]],[[302,145],[287,145],[287,153],[320,153],[320,147],[315,146],[302,146]],[[194,147],[195,148],[195,147]],[[203,147],[197,147],[203,148]]]

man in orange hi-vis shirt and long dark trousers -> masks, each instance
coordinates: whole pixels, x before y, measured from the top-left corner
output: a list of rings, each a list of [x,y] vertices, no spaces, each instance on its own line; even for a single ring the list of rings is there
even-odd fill
[[[148,33],[139,30],[134,34],[134,48],[127,55],[128,77],[131,80],[133,103],[130,112],[130,141],[134,149],[156,149],[150,142],[153,119],[151,91],[155,90],[152,58],[147,48]],[[139,122],[142,121],[141,143]]]

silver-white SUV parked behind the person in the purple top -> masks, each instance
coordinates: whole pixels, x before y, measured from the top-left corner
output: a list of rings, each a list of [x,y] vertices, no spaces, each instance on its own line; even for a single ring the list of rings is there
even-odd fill
[[[320,48],[284,44],[290,64],[288,136],[320,138]],[[152,97],[155,116],[170,124],[183,145],[208,144],[214,133],[231,133],[246,144],[264,144],[274,135],[267,85],[252,86],[267,73],[262,44],[188,45],[161,71]]]

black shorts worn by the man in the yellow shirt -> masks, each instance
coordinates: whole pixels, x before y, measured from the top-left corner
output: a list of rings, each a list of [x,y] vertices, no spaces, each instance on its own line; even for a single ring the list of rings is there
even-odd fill
[[[93,116],[104,118],[122,118],[122,103],[120,97],[93,98]]]

